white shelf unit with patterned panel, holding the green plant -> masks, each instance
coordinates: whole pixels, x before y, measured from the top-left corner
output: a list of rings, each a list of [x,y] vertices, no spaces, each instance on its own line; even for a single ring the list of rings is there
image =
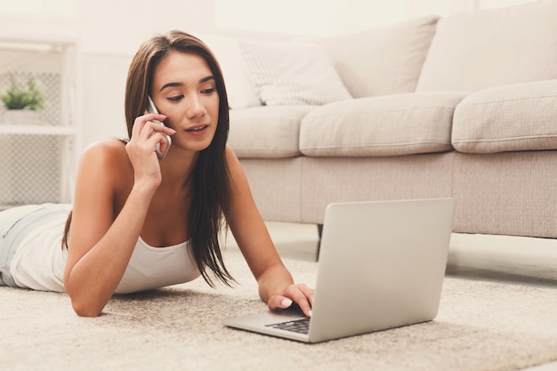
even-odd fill
[[[0,93],[12,77],[24,84],[33,77],[44,93],[39,125],[10,121],[0,102],[0,209],[72,201],[82,133],[79,60],[76,37],[0,34]]]

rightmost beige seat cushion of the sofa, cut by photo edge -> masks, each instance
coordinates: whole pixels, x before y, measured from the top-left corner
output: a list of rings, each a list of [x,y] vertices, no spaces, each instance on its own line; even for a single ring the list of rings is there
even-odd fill
[[[557,149],[557,80],[470,94],[456,107],[452,138],[468,153]]]

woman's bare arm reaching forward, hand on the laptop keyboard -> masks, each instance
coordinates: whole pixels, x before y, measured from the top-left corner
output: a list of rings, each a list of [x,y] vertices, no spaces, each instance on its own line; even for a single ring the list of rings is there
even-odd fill
[[[232,149],[227,148],[230,170],[230,230],[259,285],[259,294],[270,310],[284,309],[296,302],[306,316],[311,316],[313,290],[295,285],[270,239],[269,231],[257,210],[246,174]]]

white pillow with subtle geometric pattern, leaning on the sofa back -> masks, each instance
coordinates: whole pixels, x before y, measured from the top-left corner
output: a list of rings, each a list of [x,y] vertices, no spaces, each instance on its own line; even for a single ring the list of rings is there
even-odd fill
[[[239,41],[248,76],[263,104],[311,104],[351,99],[318,44]]]

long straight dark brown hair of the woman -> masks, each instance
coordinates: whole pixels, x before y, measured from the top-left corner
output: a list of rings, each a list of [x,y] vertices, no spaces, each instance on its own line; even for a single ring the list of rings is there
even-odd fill
[[[219,94],[219,118],[211,144],[199,152],[198,162],[192,173],[193,197],[190,206],[189,231],[190,244],[198,269],[210,286],[214,277],[230,286],[234,278],[224,266],[220,231],[226,228],[224,215],[230,214],[230,173],[226,165],[226,141],[229,132],[229,107],[222,77],[222,70],[213,52],[195,36],[182,31],[170,31],[165,35],[150,38],[141,44],[133,57],[125,85],[125,121],[128,136],[132,136],[133,122],[141,116],[147,106],[152,85],[153,73],[158,63],[170,52],[196,54],[206,60],[214,76],[216,91]],[[69,224],[66,222],[62,244],[68,247]]]

